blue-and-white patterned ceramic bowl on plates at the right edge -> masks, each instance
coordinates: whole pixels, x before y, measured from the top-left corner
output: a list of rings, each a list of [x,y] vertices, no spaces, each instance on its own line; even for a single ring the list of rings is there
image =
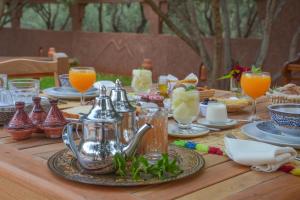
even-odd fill
[[[300,104],[274,104],[268,109],[278,130],[300,137]]]

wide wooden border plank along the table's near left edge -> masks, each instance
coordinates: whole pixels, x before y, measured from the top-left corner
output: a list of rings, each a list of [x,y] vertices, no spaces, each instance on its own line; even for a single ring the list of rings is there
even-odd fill
[[[46,161],[34,160],[32,156],[7,145],[0,146],[0,157],[0,177],[54,199],[138,199],[124,188],[90,186],[59,178],[50,173]]]

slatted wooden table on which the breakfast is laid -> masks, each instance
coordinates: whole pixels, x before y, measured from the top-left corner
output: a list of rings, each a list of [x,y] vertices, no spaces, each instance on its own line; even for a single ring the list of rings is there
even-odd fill
[[[224,95],[224,92],[218,92]],[[72,106],[74,103],[72,104]],[[258,103],[259,115],[268,117],[266,99]],[[64,108],[71,104],[63,104]],[[246,118],[249,112],[231,115]],[[223,147],[226,132],[245,138],[239,128],[212,132],[194,139],[208,145]],[[173,140],[174,138],[170,138]],[[101,187],[74,183],[53,175],[47,159],[65,148],[61,140],[34,135],[16,142],[0,129],[0,199],[299,199],[299,177],[283,172],[262,173],[230,161],[226,156],[203,154],[205,169],[192,177],[143,187]]]

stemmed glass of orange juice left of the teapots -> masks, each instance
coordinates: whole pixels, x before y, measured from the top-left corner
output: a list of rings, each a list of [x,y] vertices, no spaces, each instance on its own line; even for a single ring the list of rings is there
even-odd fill
[[[80,92],[80,104],[84,105],[84,93],[96,81],[95,69],[93,67],[72,67],[69,71],[69,80],[72,87]]]

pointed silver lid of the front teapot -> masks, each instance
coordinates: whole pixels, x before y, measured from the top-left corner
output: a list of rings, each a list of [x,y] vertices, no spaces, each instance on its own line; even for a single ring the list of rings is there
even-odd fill
[[[107,123],[121,121],[121,116],[116,112],[110,97],[106,95],[106,87],[104,85],[100,88],[100,95],[96,97],[93,108],[83,120]]]

